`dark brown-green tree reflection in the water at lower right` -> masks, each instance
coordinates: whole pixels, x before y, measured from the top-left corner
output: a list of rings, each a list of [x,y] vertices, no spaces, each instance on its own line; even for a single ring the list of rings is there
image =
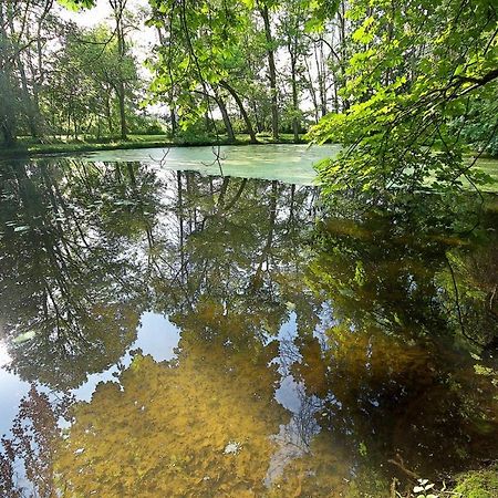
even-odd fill
[[[474,373],[452,318],[446,253],[460,249],[375,218],[330,220],[320,239],[308,278],[330,297],[331,324],[324,343],[317,335],[295,339],[302,361],[291,371],[309,396],[324,401],[322,435],[357,452],[359,463],[365,461],[360,448],[370,466],[402,450],[409,465],[424,463],[425,473],[434,471],[430,454],[445,455],[439,468],[489,455],[489,434],[498,430],[492,383]],[[460,304],[466,317],[485,295]]]

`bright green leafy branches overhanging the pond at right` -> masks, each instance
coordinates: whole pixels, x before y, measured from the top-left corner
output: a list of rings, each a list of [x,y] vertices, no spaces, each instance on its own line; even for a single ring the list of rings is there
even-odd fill
[[[352,188],[375,198],[458,188],[463,178],[476,188],[487,181],[463,160],[460,126],[448,125],[461,124],[479,101],[494,106],[494,2],[355,0],[347,17],[360,24],[350,37],[360,49],[341,90],[350,107],[310,132],[315,142],[344,145],[339,158],[319,166],[325,193]]]

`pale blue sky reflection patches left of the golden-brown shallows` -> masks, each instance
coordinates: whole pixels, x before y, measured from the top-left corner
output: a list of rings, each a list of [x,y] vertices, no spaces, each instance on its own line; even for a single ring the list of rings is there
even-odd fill
[[[141,349],[156,362],[167,361],[175,357],[175,347],[178,345],[180,331],[166,317],[146,312],[141,318],[137,339],[129,350]],[[0,436],[10,430],[19,403],[30,388],[28,382],[21,381],[17,375],[4,370],[9,362],[7,347],[0,343]],[[126,352],[111,369],[89,375],[87,381],[74,390],[73,394],[80,401],[90,401],[100,382],[117,382],[116,374],[120,369],[129,366],[131,362],[132,355]],[[41,391],[49,393],[48,388]]]

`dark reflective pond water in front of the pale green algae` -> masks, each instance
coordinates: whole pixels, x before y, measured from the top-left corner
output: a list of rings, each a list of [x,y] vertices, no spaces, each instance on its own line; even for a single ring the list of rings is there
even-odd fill
[[[457,237],[102,154],[0,164],[0,496],[386,497],[496,457],[496,201]]]

